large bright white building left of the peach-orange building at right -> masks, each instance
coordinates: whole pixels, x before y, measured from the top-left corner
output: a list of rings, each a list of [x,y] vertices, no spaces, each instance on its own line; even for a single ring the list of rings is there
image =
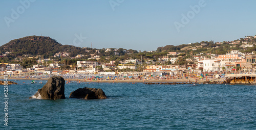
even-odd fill
[[[220,71],[221,70],[221,60],[208,59],[198,62],[198,67],[203,67],[204,72],[210,71]]]

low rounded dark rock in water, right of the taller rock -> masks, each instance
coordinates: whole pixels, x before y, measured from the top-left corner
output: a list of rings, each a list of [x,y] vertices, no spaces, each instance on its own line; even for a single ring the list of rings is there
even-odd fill
[[[83,98],[83,99],[106,99],[105,93],[102,89],[94,88],[79,88],[70,93],[70,98]]]

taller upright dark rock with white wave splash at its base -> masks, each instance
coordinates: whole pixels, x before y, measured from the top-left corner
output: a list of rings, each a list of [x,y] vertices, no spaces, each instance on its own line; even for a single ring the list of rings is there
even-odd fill
[[[37,93],[30,98],[38,99],[65,99],[65,80],[61,76],[52,76]]]

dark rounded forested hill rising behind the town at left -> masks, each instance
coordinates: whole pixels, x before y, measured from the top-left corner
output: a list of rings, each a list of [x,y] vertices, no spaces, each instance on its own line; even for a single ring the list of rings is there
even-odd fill
[[[0,54],[11,51],[10,55],[46,55],[53,56],[58,52],[70,53],[70,56],[83,54],[81,47],[72,45],[61,45],[55,39],[43,36],[28,36],[14,39],[0,47]]]

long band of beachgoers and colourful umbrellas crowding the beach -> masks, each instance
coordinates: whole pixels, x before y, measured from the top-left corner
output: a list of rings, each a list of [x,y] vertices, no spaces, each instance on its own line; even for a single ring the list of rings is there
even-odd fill
[[[40,75],[10,75],[9,79],[38,79],[47,80],[52,74]],[[197,82],[200,80],[213,80],[216,79],[214,74],[178,74],[178,75],[138,75],[138,74],[60,74],[64,79],[81,80],[81,81],[125,81],[125,80],[186,80],[186,82]]]

